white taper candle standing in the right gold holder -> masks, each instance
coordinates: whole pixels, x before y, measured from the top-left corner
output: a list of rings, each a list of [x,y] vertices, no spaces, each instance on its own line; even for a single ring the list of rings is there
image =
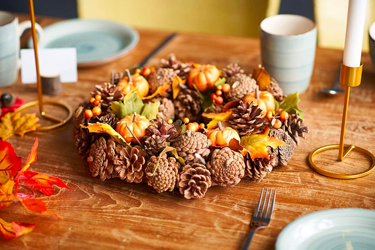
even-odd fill
[[[361,63],[365,13],[366,0],[349,0],[343,58],[344,65],[349,67],[359,67]]]

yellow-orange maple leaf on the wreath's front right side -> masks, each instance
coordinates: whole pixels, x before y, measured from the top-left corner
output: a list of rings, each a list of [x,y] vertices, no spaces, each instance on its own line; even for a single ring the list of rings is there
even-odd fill
[[[251,159],[269,159],[267,147],[276,148],[278,146],[287,145],[285,142],[278,140],[276,137],[268,136],[269,131],[270,129],[267,127],[263,134],[243,136],[241,138],[243,150],[240,151],[242,155],[245,156],[246,153],[249,153]]]

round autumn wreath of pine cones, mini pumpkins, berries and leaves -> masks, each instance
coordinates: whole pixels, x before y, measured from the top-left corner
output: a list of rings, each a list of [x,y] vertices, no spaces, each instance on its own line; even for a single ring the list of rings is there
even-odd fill
[[[202,198],[213,185],[262,179],[287,165],[309,127],[299,92],[285,96],[264,67],[178,61],[113,72],[75,112],[78,154],[102,181],[145,181]]]

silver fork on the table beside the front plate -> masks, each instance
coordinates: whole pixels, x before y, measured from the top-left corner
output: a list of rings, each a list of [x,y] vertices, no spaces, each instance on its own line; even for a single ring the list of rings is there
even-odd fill
[[[266,195],[264,196],[264,200],[263,200],[263,203],[262,203],[262,211],[260,211],[259,209],[260,209],[260,206],[261,206],[263,191],[264,191],[264,188],[262,188],[262,192],[260,193],[257,207],[255,208],[254,215],[251,219],[250,232],[249,232],[248,238],[246,238],[246,241],[245,241],[245,244],[242,247],[242,250],[248,250],[249,247],[250,247],[251,241],[254,237],[254,234],[259,229],[267,228],[267,226],[270,224],[270,221],[271,221],[271,218],[272,218],[273,207],[275,206],[276,189],[273,192],[273,198],[272,198],[272,203],[271,203],[271,208],[270,208],[269,213],[267,213],[267,212],[268,212],[268,208],[270,206],[272,189],[270,190],[270,193],[269,193],[266,210],[264,210],[264,206],[266,205],[266,200],[267,200],[267,193],[268,193],[268,188],[266,189]]]

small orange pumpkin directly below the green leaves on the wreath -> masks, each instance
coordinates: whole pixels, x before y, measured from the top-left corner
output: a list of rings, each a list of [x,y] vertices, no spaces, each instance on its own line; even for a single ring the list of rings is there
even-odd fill
[[[136,139],[130,133],[129,129],[133,132],[139,141],[142,141],[142,137],[147,135],[146,129],[148,126],[152,125],[150,121],[147,120],[143,115],[126,115],[124,118],[117,123],[116,131],[119,133],[127,143],[133,142],[137,143]]]

